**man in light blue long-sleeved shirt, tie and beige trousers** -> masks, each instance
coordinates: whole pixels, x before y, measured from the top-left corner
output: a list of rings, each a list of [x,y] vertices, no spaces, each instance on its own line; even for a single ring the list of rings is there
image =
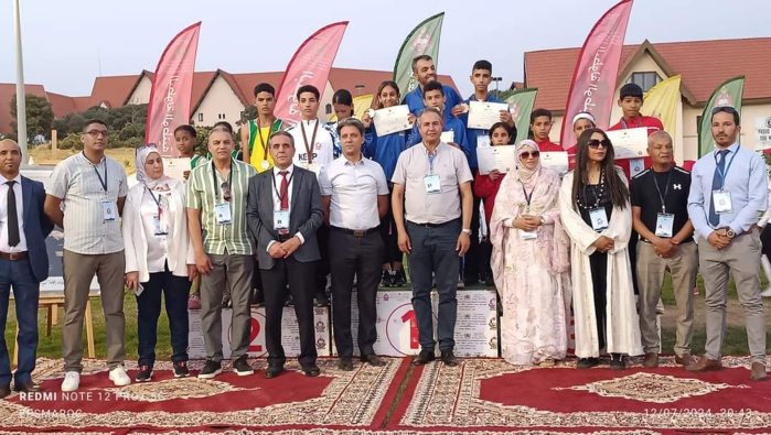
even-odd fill
[[[750,380],[764,381],[765,319],[758,278],[761,244],[757,224],[768,205],[765,163],[739,146],[741,128],[736,109],[716,107],[711,116],[715,151],[694,165],[688,195],[688,216],[699,241],[699,270],[707,293],[707,342],[702,359],[686,369],[703,372],[722,368],[720,347],[730,271],[747,318]]]

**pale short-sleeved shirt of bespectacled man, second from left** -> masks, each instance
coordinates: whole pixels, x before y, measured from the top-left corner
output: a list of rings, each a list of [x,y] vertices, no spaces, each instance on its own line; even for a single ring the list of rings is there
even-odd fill
[[[114,220],[105,220],[105,207],[117,207],[127,193],[126,170],[106,155],[94,164],[81,152],[57,164],[47,194],[64,206],[64,249],[86,255],[122,251],[118,210],[111,210]]]

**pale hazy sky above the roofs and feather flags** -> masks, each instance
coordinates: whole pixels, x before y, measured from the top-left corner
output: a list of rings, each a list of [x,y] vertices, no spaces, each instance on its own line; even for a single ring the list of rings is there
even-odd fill
[[[438,73],[451,75],[465,96],[473,90],[468,77],[475,61],[492,62],[502,88],[522,81],[525,52],[580,46],[614,3],[22,0],[24,77],[47,91],[90,95],[98,75],[154,70],[171,39],[196,21],[203,21],[196,70],[283,70],[302,41],[336,21],[350,24],[335,66],[393,70],[409,31],[445,11]],[[625,43],[771,36],[768,6],[769,0],[636,0]],[[0,0],[0,83],[14,83],[13,0]]]

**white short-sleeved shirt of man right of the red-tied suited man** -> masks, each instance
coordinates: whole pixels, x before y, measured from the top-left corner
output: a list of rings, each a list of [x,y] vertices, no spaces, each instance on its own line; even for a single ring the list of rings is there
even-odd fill
[[[377,162],[342,156],[321,170],[319,187],[321,195],[331,196],[331,226],[364,230],[381,225],[377,197],[388,195],[388,183]]]

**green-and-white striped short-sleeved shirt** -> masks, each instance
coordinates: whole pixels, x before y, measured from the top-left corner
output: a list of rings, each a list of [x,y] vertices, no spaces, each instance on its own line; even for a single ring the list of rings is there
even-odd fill
[[[218,203],[225,203],[222,184],[228,180],[223,178],[213,166],[213,163],[197,166],[191,171],[188,181],[188,208],[201,210],[204,252],[251,255],[255,247],[246,227],[246,197],[249,192],[249,178],[257,175],[257,171],[249,164],[232,160],[233,174],[228,175],[232,221],[221,225],[216,222],[214,207]]]

